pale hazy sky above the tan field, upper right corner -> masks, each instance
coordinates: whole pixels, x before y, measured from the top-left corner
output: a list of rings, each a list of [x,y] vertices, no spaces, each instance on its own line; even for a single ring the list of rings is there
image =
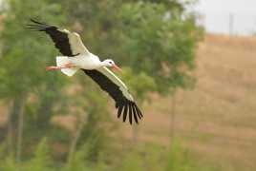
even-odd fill
[[[209,32],[228,33],[230,13],[234,33],[256,32],[256,0],[199,0],[196,10],[205,15],[203,23]]]

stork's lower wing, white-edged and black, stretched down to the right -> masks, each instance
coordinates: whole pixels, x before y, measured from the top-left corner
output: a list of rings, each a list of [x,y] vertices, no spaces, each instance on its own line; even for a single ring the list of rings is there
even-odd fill
[[[143,116],[138,105],[134,102],[126,85],[111,70],[107,67],[100,67],[94,70],[83,69],[83,71],[115,100],[118,118],[122,115],[123,122],[125,122],[128,114],[131,124],[133,118],[136,123],[139,123],[139,119]]]

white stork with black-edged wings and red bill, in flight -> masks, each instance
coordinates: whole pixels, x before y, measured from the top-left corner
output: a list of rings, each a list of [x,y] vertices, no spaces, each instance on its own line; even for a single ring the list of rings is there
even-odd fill
[[[133,123],[133,118],[136,123],[139,123],[139,119],[143,116],[138,105],[127,86],[108,68],[120,70],[113,60],[107,59],[101,62],[83,45],[79,34],[75,32],[33,19],[31,22],[28,28],[44,31],[50,35],[55,47],[64,55],[57,56],[56,66],[47,66],[47,70],[61,70],[64,74],[73,76],[78,69],[81,69],[115,100],[118,118],[122,115],[122,120],[125,122],[128,114],[129,123]]]

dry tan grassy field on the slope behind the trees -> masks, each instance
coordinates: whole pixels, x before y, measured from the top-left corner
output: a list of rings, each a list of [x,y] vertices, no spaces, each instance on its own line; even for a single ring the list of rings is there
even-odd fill
[[[199,46],[198,83],[194,90],[176,94],[175,120],[175,137],[199,161],[223,170],[256,169],[255,57],[256,38],[251,37],[207,35]],[[144,106],[139,142],[168,144],[171,104],[170,97],[152,95],[152,103]],[[0,110],[3,126],[6,109]],[[131,126],[119,125],[132,139]]]

